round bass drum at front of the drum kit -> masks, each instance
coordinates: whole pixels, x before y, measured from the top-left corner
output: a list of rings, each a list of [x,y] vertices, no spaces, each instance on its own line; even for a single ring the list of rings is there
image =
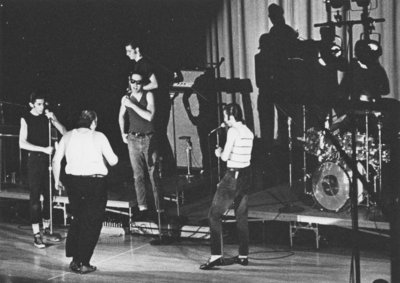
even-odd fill
[[[365,175],[364,167],[357,164],[358,170]],[[352,171],[333,163],[323,163],[313,174],[313,196],[315,201],[325,210],[338,212],[345,208],[350,200]],[[361,203],[363,186],[357,181],[358,203]]]

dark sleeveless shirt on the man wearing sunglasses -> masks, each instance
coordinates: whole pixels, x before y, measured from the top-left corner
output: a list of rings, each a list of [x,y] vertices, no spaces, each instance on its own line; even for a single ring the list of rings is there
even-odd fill
[[[147,92],[144,92],[140,101],[137,101],[135,97],[131,96],[130,100],[142,109],[147,108]],[[154,132],[153,122],[147,121],[140,117],[132,108],[127,107],[129,115],[129,132],[149,134]]]

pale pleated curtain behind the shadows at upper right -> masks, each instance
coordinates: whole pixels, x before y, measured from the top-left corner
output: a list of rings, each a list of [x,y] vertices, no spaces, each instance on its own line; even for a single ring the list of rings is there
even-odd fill
[[[375,0],[371,1],[375,6]],[[222,0],[218,16],[210,24],[207,32],[207,52],[209,60],[217,61],[224,57],[221,76],[227,78],[250,78],[253,84],[251,94],[256,133],[258,133],[257,96],[255,85],[254,55],[258,53],[258,39],[271,28],[268,18],[268,6],[277,3],[284,8],[286,23],[300,34],[302,39],[319,40],[319,28],[316,23],[327,21],[324,1],[322,0]],[[400,2],[396,0],[378,0],[378,7],[371,11],[373,18],[384,18],[384,23],[375,24],[375,32],[381,35],[383,64],[390,80],[389,97],[400,99]],[[355,3],[353,8],[359,9]],[[335,10],[334,10],[335,12]],[[359,20],[360,11],[351,11],[349,20]],[[354,27],[354,43],[360,38],[361,26]],[[347,31],[336,28],[336,34],[347,43]],[[374,37],[373,37],[374,38]],[[236,96],[239,101],[240,97]],[[230,95],[223,100],[230,101]]]

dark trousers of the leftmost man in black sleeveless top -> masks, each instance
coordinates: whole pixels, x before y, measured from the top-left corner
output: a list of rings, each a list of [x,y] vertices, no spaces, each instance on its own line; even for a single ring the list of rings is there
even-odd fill
[[[50,219],[49,156],[41,152],[29,152],[27,169],[31,223],[41,223],[42,218]],[[43,211],[40,204],[41,194],[43,195]]]

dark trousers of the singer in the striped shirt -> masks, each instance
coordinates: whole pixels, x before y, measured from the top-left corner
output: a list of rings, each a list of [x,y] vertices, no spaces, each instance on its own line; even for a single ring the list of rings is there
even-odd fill
[[[238,239],[239,255],[249,253],[249,228],[247,220],[247,192],[250,187],[249,168],[239,171],[227,169],[224,177],[217,186],[213,202],[211,204],[208,218],[211,230],[211,254],[221,255],[221,217],[232,204],[235,210]]]

